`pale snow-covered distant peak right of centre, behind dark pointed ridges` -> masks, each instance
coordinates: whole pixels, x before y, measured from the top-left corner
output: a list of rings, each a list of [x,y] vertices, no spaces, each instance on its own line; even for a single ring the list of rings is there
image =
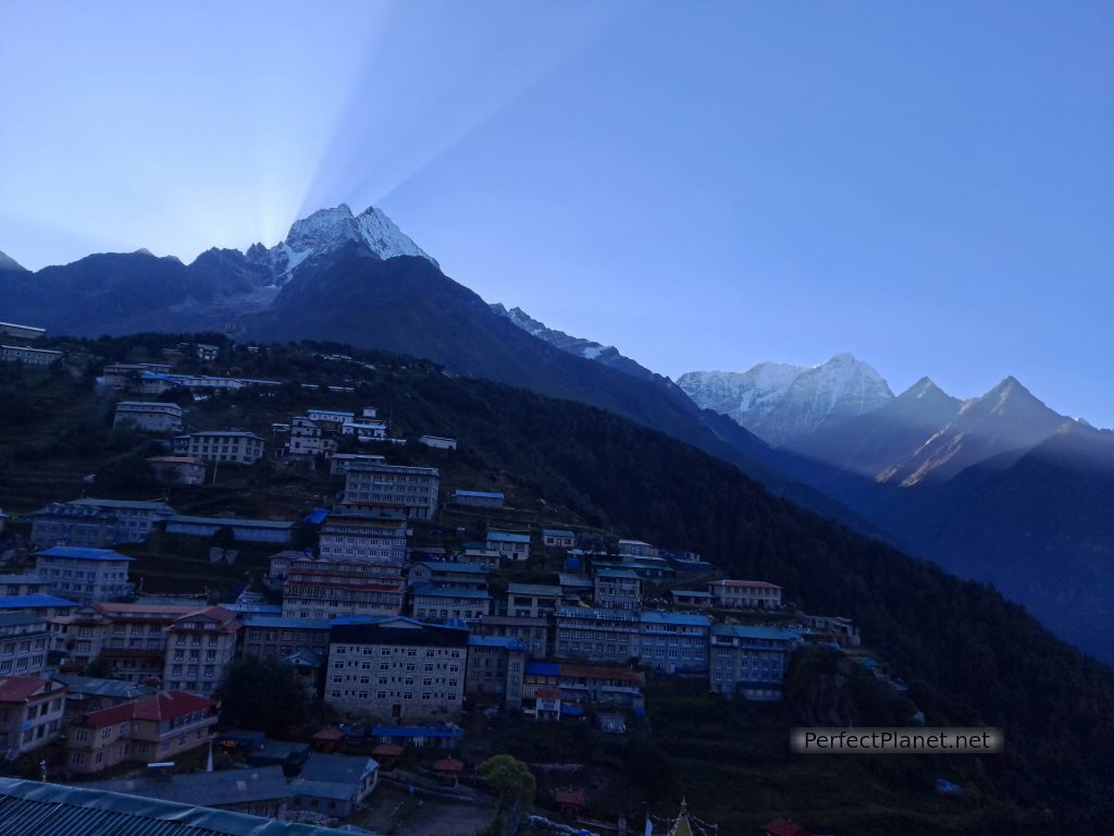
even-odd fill
[[[698,406],[723,412],[775,446],[893,398],[870,364],[847,353],[811,369],[762,362],[744,372],[691,371],[677,385]]]

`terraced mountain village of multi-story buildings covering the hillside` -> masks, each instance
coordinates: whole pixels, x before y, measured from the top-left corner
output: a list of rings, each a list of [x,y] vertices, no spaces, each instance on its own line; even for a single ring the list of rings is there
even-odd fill
[[[3,361],[65,361],[36,346],[40,329],[0,332]],[[297,518],[258,518],[179,513],[165,497],[117,498],[91,482],[82,496],[0,516],[9,769],[32,764],[86,789],[378,830],[364,811],[385,787],[447,805],[450,819],[455,805],[475,813],[475,752],[494,723],[652,733],[649,680],[778,701],[790,658],[811,644],[905,688],[848,618],[802,610],[778,577],[724,576],[684,543],[592,529],[549,506],[517,507],[488,485],[447,484],[438,463],[468,439],[392,436],[389,404],[319,406],[325,392],[354,399],[351,387],[303,383],[300,412],[265,428],[197,426],[190,404],[285,382],[197,371],[221,350],[182,343],[157,362],[102,367],[97,386],[114,402],[114,426],[163,447],[146,460],[150,479],[203,495],[270,459],[319,474],[333,493]],[[134,555],[176,544],[219,567],[250,552],[270,557],[265,573],[219,593],[136,583]],[[297,675],[321,718],[313,733],[272,739],[222,721],[226,674],[247,659]],[[214,771],[214,752],[231,768]],[[642,829],[641,819],[588,818],[593,787],[577,776],[539,781],[530,826]],[[483,818],[429,832],[471,833]],[[654,826],[647,818],[645,832],[710,827],[687,810]],[[765,832],[808,834],[785,820]]]

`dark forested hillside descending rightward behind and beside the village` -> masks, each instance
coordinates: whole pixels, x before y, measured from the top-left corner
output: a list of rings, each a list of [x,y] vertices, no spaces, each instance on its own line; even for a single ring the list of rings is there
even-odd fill
[[[99,364],[154,354],[177,339],[71,342],[71,351],[87,356],[88,371],[72,380],[55,372],[49,386],[6,371],[0,479],[28,449],[46,464],[80,450],[98,426],[102,435],[107,419],[96,408],[94,382]],[[352,360],[324,360],[324,353]],[[1114,671],[1053,638],[993,589],[852,534],[771,496],[724,461],[582,404],[348,347],[302,343],[248,353],[226,346],[222,358],[225,371],[287,385],[198,405],[203,416],[234,410],[243,426],[260,430],[272,415],[304,409],[311,400],[321,407],[375,404],[403,435],[458,438],[459,455],[475,468],[511,474],[593,524],[701,552],[731,575],[781,584],[810,612],[854,619],[909,683],[909,698],[929,725],[1005,729],[1007,754],[957,766],[988,799],[1016,806],[1019,820],[1029,823],[1028,830],[1000,832],[1114,826]],[[307,396],[305,382],[354,391]],[[840,769],[838,759],[831,769]]]

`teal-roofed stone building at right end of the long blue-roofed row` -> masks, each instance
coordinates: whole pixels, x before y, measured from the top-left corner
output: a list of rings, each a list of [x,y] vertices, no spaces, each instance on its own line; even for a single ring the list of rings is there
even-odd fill
[[[709,644],[712,690],[749,700],[780,700],[789,658],[800,641],[795,630],[716,624]]]

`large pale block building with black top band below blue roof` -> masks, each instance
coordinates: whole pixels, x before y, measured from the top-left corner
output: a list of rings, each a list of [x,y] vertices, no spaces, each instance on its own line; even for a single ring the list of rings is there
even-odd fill
[[[459,716],[468,631],[394,618],[330,631],[325,702],[353,717],[393,720]]]

